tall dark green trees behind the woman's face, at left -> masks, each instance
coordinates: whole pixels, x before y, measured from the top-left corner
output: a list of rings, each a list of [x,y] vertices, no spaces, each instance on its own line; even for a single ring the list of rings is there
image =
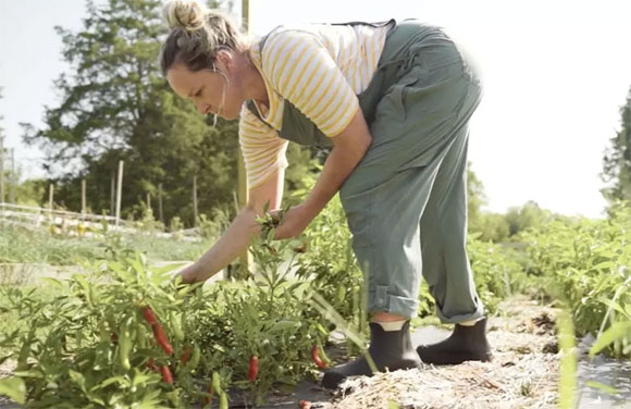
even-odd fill
[[[67,208],[81,208],[81,179],[95,211],[111,208],[111,181],[125,161],[123,215],[137,215],[147,193],[162,184],[164,214],[193,224],[193,176],[199,211],[232,202],[238,140],[234,122],[210,125],[176,97],[156,64],[165,25],[159,0],[87,3],[78,33],[55,27],[71,75],[55,80],[61,103],[46,108],[44,129],[23,124],[24,139],[47,153]],[[157,212],[154,212],[157,213]]]

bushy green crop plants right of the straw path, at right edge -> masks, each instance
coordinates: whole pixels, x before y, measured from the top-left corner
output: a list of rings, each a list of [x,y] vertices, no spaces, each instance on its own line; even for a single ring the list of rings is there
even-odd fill
[[[610,213],[607,220],[554,221],[522,234],[530,274],[567,300],[579,335],[631,321],[631,207],[618,202]],[[630,333],[611,342],[616,355],[630,355]]]

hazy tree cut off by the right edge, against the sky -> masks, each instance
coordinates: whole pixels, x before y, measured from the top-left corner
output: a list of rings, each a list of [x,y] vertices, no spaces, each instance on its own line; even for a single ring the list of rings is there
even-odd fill
[[[620,131],[605,150],[601,177],[607,184],[601,193],[609,203],[631,200],[631,88],[620,108]]]

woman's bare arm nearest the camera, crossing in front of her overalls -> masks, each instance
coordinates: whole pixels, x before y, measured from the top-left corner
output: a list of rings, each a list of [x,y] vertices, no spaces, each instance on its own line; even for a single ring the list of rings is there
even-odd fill
[[[326,206],[339,190],[344,181],[366,156],[372,144],[372,135],[358,109],[349,124],[338,135],[332,137],[333,149],[326,158],[324,169],[316,186],[302,205],[285,213],[282,224],[276,230],[275,238],[296,237]]]

